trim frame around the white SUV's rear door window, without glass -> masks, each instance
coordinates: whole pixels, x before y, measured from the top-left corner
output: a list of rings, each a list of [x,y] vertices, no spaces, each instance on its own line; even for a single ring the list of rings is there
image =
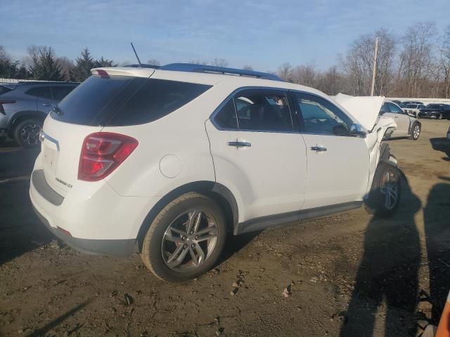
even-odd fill
[[[292,131],[269,131],[269,130],[248,130],[245,128],[240,128],[239,126],[239,118],[238,118],[238,112],[236,111],[236,103],[234,102],[234,97],[240,93],[241,91],[246,91],[246,90],[270,90],[270,91],[283,91],[285,98],[286,98],[286,102],[288,103],[288,110],[289,110],[289,115],[290,115],[290,125],[291,125],[291,129]],[[224,105],[226,105],[226,103],[229,102],[229,100],[233,100],[233,109],[234,109],[234,113],[236,115],[236,120],[237,120],[237,124],[238,124],[238,128],[222,128],[221,126],[219,126],[217,124],[217,122],[215,121],[215,117],[216,115],[221,111],[222,107],[224,107]],[[271,87],[271,86],[243,86],[240,88],[237,88],[236,90],[234,90],[232,93],[230,93],[228,96],[226,96],[226,98],[219,104],[219,106],[212,112],[212,114],[210,115],[210,121],[212,123],[212,125],[214,125],[215,128],[217,128],[217,130],[219,131],[242,131],[242,132],[263,132],[263,133],[288,133],[288,134],[292,134],[292,133],[297,133],[295,131],[295,125],[294,125],[294,118],[293,118],[293,107],[290,106],[290,95],[289,95],[289,89],[286,88],[276,88],[276,87]]]

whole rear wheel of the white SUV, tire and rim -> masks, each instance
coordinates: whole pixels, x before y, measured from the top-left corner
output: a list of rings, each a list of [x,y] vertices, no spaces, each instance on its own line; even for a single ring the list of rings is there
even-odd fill
[[[210,198],[189,192],[165,206],[148,228],[141,258],[167,282],[198,277],[210,270],[224,249],[224,212]]]

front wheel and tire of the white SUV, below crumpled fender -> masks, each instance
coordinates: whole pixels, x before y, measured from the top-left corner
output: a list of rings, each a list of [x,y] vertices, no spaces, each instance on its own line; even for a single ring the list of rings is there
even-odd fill
[[[401,179],[397,167],[380,162],[373,177],[371,192],[364,206],[368,213],[382,218],[392,216],[399,208]]]

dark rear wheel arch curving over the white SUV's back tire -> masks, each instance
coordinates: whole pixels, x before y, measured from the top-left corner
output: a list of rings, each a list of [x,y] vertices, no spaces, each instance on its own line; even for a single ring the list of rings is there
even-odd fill
[[[158,216],[158,213],[174,199],[188,192],[198,192],[199,194],[204,194],[214,200],[220,206],[222,211],[224,211],[228,230],[233,232],[234,228],[238,225],[238,204],[233,193],[228,187],[221,185],[220,183],[215,183],[214,181],[196,181],[194,183],[181,185],[167,193],[155,204],[155,206],[153,206],[152,209],[150,209],[139,228],[138,236],[136,238],[138,251],[141,251],[146,232],[155,217]]]

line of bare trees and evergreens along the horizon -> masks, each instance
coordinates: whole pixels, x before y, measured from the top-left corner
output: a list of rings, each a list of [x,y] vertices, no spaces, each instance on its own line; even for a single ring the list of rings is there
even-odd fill
[[[361,34],[335,65],[319,70],[314,62],[302,65],[283,63],[274,74],[286,81],[317,88],[328,95],[370,95],[375,39],[378,38],[375,95],[387,97],[450,98],[450,25],[438,32],[432,22],[418,22],[397,35],[387,29]],[[212,62],[192,60],[202,65],[229,65],[224,58]],[[150,65],[160,65],[155,59]],[[84,81],[94,67],[115,67],[113,60],[94,60],[88,48],[75,58],[56,57],[49,46],[31,46],[23,60],[13,60],[0,46],[0,77],[52,81]],[[245,65],[245,70],[252,70]]]

